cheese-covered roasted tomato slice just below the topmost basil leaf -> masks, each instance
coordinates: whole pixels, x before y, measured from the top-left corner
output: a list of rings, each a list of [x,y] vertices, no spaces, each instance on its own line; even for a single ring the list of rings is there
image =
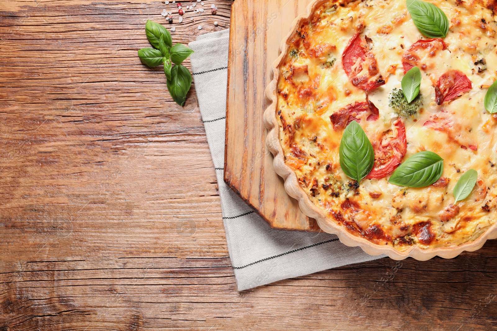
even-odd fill
[[[419,63],[422,58],[433,58],[438,51],[444,51],[446,49],[447,45],[441,38],[419,39],[411,45],[402,56],[404,73],[408,72],[414,66],[419,66],[421,69],[424,69],[422,66],[426,65]]]

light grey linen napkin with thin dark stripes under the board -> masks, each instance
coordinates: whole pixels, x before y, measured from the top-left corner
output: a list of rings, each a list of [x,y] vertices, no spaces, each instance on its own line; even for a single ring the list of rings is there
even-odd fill
[[[272,230],[223,180],[229,30],[188,44],[195,89],[216,168],[226,241],[238,290],[384,257],[347,247],[335,235]]]

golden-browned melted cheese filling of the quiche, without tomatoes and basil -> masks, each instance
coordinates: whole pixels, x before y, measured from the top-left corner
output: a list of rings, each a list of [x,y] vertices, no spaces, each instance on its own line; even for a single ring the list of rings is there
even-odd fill
[[[403,161],[422,150],[437,153],[444,159],[445,186],[400,187],[388,183],[390,176],[357,184],[339,164],[343,129],[334,130],[330,116],[366,100],[366,92],[354,86],[343,69],[343,51],[356,33],[363,39],[367,36],[377,77],[385,80],[368,92],[368,99],[379,109],[379,119],[367,121],[357,115],[373,145],[378,144],[399,117],[389,99],[394,88],[401,88],[402,58],[417,40],[427,39],[415,27],[405,0],[324,2],[288,39],[288,53],[279,65],[276,111],[286,164],[330,222],[399,250],[472,241],[497,216],[497,118],[483,104],[497,72],[494,14],[475,1],[429,2],[449,19],[449,32],[443,39],[447,48],[416,53],[423,105],[414,116],[401,117],[408,141]],[[472,89],[438,106],[434,86],[449,69],[464,73]],[[468,146],[477,146],[477,150]],[[452,190],[470,168],[478,171],[478,183],[456,206]]]

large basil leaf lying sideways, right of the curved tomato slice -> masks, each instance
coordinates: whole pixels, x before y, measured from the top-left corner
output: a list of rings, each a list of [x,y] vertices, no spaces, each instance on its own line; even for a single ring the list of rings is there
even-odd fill
[[[425,150],[414,154],[395,169],[388,182],[414,188],[425,187],[439,180],[442,172],[443,159]]]

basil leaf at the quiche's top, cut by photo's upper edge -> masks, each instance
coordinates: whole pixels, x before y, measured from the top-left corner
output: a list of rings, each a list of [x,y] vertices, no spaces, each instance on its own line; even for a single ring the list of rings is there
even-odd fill
[[[449,20],[442,9],[421,0],[407,0],[406,4],[419,32],[429,38],[445,38]]]

